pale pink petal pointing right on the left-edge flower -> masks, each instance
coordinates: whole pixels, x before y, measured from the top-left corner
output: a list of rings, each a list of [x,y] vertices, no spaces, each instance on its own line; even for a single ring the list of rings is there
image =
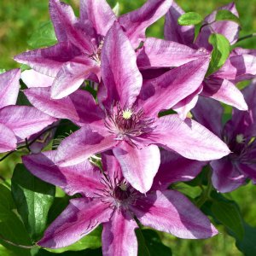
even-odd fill
[[[26,106],[8,106],[0,109],[0,120],[15,132],[17,137],[25,139],[51,125],[56,119]]]

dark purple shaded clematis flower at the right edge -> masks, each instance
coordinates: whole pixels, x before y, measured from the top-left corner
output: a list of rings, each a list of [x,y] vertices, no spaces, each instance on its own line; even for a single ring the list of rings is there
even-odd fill
[[[220,160],[212,160],[212,184],[225,193],[237,189],[247,178],[256,182],[256,81],[242,90],[248,104],[248,112],[233,110],[232,119],[221,124],[223,108],[211,99],[200,97],[192,110],[195,119],[221,137],[232,153]]]

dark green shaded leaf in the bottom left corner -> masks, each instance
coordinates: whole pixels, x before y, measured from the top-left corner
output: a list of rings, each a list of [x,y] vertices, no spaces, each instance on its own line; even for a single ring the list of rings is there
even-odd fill
[[[0,244],[15,255],[30,255],[29,250],[10,245],[15,244],[31,246],[32,243],[20,218],[15,214],[15,202],[9,189],[0,184]],[[0,249],[2,255],[3,249]],[[4,255],[4,254],[3,254]]]

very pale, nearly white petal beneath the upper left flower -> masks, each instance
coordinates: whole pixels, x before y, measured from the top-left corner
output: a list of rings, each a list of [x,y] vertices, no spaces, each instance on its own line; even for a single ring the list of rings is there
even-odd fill
[[[32,69],[25,70],[21,73],[20,79],[28,88],[33,87],[49,87],[53,84],[54,79],[42,73],[38,73]]]

